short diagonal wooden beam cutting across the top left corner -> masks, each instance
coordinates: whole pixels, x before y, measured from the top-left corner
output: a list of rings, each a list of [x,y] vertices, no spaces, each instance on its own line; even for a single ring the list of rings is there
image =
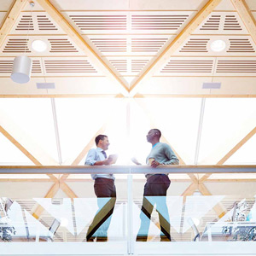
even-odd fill
[[[21,10],[25,7],[27,0],[15,0],[14,4],[9,9],[9,13],[3,21],[0,29],[0,48],[2,47],[5,38],[9,35],[15,21],[20,15]]]

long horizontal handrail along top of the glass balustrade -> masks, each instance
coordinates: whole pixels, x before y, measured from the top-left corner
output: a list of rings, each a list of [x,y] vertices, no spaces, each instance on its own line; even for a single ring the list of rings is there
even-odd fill
[[[0,166],[0,174],[256,173],[256,166]]]

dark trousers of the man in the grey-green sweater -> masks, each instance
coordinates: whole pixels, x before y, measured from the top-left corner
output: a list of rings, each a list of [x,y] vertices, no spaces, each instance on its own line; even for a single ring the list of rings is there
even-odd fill
[[[140,214],[141,226],[137,234],[137,241],[147,241],[148,239],[148,229],[154,205],[156,205],[160,219],[161,241],[171,241],[170,218],[166,205],[166,192],[170,183],[169,177],[165,174],[154,174],[148,178],[144,186],[143,207]]]

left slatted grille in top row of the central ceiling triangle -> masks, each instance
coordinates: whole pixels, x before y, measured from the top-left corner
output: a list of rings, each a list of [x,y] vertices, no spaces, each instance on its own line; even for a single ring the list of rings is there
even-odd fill
[[[126,15],[70,15],[81,30],[126,30]]]

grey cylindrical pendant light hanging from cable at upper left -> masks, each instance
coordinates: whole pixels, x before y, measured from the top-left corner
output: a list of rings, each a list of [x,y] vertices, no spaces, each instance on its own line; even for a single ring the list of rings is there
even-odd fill
[[[28,23],[28,29],[27,29],[27,35],[26,35],[26,45],[25,45],[25,51],[24,54],[26,54],[26,48],[27,48],[27,41],[28,41],[28,32],[30,29],[30,22],[32,20],[32,8],[34,7],[35,3],[30,2],[31,6],[31,19]],[[15,57],[13,70],[11,74],[11,79],[18,84],[26,84],[30,80],[32,71],[32,59],[29,58],[26,55],[20,55]]]

